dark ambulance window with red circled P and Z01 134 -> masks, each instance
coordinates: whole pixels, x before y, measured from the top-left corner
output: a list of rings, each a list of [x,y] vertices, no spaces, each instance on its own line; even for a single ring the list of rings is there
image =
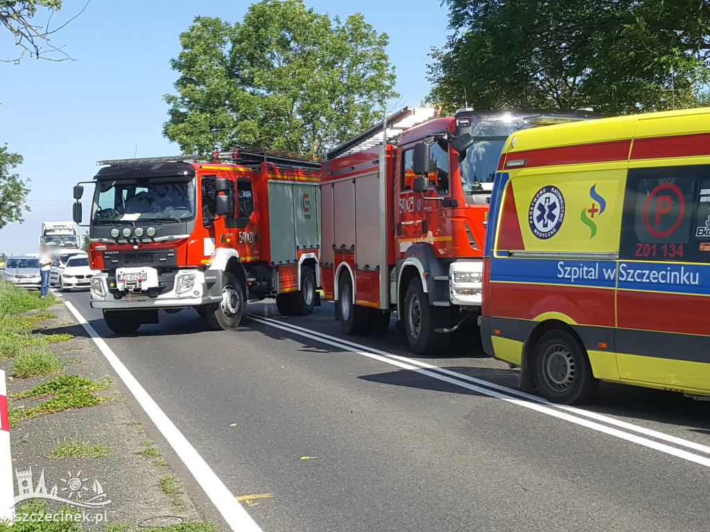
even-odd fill
[[[710,262],[710,167],[630,170],[619,257]]]

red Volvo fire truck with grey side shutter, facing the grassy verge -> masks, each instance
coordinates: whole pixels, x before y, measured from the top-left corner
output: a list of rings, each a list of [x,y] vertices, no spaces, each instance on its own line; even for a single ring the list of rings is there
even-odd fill
[[[195,309],[236,328],[247,301],[281,314],[320,304],[320,161],[261,150],[99,161],[89,221],[92,307],[115,333]]]

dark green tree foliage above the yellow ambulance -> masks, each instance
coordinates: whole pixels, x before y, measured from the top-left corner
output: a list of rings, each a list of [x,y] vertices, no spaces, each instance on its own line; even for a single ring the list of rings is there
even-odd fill
[[[448,109],[693,106],[710,78],[708,0],[444,0],[429,101]]]

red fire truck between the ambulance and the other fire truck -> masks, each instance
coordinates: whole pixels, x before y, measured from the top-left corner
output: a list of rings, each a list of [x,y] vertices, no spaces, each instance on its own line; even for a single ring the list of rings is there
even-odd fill
[[[346,334],[383,333],[391,311],[430,353],[481,311],[488,202],[508,135],[575,113],[406,107],[327,153],[322,287]],[[579,113],[578,113],[579,114]]]

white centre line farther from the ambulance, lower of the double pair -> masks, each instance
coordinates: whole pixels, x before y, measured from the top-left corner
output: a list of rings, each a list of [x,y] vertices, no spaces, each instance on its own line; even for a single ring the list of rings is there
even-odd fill
[[[465,382],[464,380],[459,380],[458,378],[454,379],[451,377],[447,377],[446,375],[442,375],[441,373],[438,372],[433,372],[429,370],[422,369],[421,367],[417,367],[416,365],[413,365],[411,363],[405,363],[405,362],[400,362],[400,360],[394,360],[394,358],[403,358],[406,359],[405,357],[398,357],[398,355],[386,355],[386,356],[381,356],[377,355],[376,353],[373,353],[373,351],[370,348],[366,348],[366,350],[354,350],[354,347],[352,345],[347,345],[347,343],[342,342],[340,338],[335,338],[335,337],[329,337],[332,338],[329,339],[327,338],[327,335],[324,335],[322,333],[318,333],[317,335],[313,334],[314,331],[310,331],[309,329],[304,329],[301,327],[297,326],[291,326],[290,324],[286,326],[283,322],[273,320],[271,318],[260,318],[258,316],[253,316],[252,314],[249,315],[251,319],[254,321],[257,321],[258,323],[263,323],[264,325],[268,325],[271,327],[275,328],[280,328],[283,331],[288,331],[290,333],[293,333],[298,336],[305,336],[306,338],[311,338],[312,340],[316,340],[322,343],[326,343],[328,345],[332,345],[334,347],[350,351],[351,353],[356,353],[358,355],[363,355],[368,358],[373,358],[375,360],[381,360],[382,362],[387,362],[388,364],[402,367],[405,370],[411,370],[414,372],[419,373],[420,375],[426,375],[427,377],[431,377],[432,379],[439,379],[443,382],[448,382],[449,384],[454,384],[454,386],[459,386],[461,388],[466,388],[471,390],[472,392],[476,392],[479,394],[484,394],[487,395],[488,397],[495,397],[496,399],[502,399],[503,401],[506,401],[508,403],[513,403],[517,404],[518,406],[523,406],[524,408],[530,409],[530,410],[535,410],[537,412],[540,412],[542,414],[547,414],[548,416],[556,417],[558,419],[562,419],[564,421],[569,421],[570,423],[575,423],[580,426],[584,426],[586,428],[591,428],[594,431],[598,431],[601,433],[608,434],[609,436],[614,436],[616,438],[620,438],[622,440],[630,441],[632,443],[638,443],[638,445],[643,445],[644,447],[648,447],[651,449],[655,449],[660,451],[661,453],[666,453],[668,455],[675,456],[677,458],[682,458],[684,460],[688,460],[689,462],[695,462],[699,465],[704,465],[705,467],[710,467],[710,458],[701,456],[701,455],[696,455],[694,453],[690,453],[687,450],[682,450],[682,449],[677,449],[674,447],[671,447],[670,445],[665,445],[665,443],[659,443],[654,440],[649,440],[647,438],[642,438],[641,436],[636,436],[635,434],[630,434],[627,432],[619,431],[616,428],[611,428],[606,425],[601,425],[599,423],[595,423],[594,421],[589,421],[588,419],[583,419],[577,416],[572,416],[571,414],[567,414],[565,412],[552,409],[548,406],[544,406],[542,404],[537,404],[528,400],[523,400],[523,399],[515,399],[515,397],[510,397],[510,395],[507,394],[502,394],[495,392],[491,389],[488,388],[482,388],[479,386],[475,386],[474,384],[469,384],[469,382]],[[363,346],[364,347],[364,346]],[[379,353],[385,353],[381,350],[377,350]],[[415,362],[412,360],[412,362]],[[442,368],[439,368],[442,369]],[[455,372],[452,372],[455,373]],[[458,375],[457,375],[458,377]],[[486,386],[488,383],[486,382]],[[508,390],[508,389],[506,389]]]

